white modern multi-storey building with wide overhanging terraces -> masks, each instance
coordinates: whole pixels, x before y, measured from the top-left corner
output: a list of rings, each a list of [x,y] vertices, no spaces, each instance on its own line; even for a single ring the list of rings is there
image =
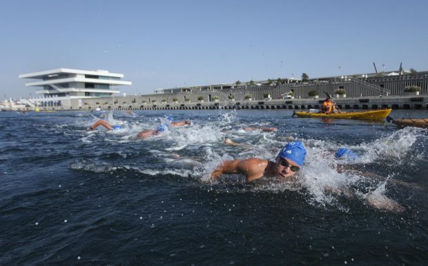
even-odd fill
[[[81,106],[82,99],[108,97],[119,93],[112,87],[131,85],[123,81],[124,74],[110,73],[107,70],[75,70],[58,68],[20,74],[20,79],[38,79],[26,82],[26,86],[41,87],[36,90],[36,96],[28,99],[35,105],[49,108],[68,109],[71,106]]]

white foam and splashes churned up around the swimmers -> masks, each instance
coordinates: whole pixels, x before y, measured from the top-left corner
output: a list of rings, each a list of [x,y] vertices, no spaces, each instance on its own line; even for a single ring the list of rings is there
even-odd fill
[[[113,114],[109,114],[113,119]],[[127,121],[115,121],[127,125],[121,130],[111,132],[98,132],[95,136],[89,133],[81,141],[90,143],[93,137],[104,137],[104,141],[126,143],[135,141],[135,135],[144,129],[152,128],[159,119],[149,118],[146,121],[128,123]],[[261,130],[242,130],[242,127],[269,126],[266,123],[241,123],[236,118],[236,112],[220,112],[217,119],[207,119],[203,124],[193,123],[191,127],[173,127],[167,119],[160,118],[166,130],[155,136],[151,141],[162,140],[163,147],[160,150],[150,152],[161,158],[166,164],[163,170],[139,169],[144,174],[177,174],[198,178],[202,183],[210,180],[211,172],[225,160],[235,158],[259,157],[273,161],[278,150],[286,142],[296,139],[299,134],[291,136],[278,136],[277,132],[262,132]],[[222,130],[225,129],[225,130]],[[307,147],[307,161],[302,167],[298,184],[281,183],[277,180],[264,182],[251,187],[251,190],[278,192],[283,190],[302,190],[308,196],[308,201],[315,205],[334,205],[339,209],[347,209],[338,203],[338,194],[357,196],[362,201],[373,205],[382,205],[389,199],[385,196],[389,178],[380,176],[385,184],[380,181],[373,183],[372,178],[365,176],[358,170],[364,165],[376,165],[380,162],[397,161],[400,164],[411,163],[411,160],[402,160],[409,156],[423,158],[427,143],[426,130],[407,127],[382,136],[368,143],[344,145],[335,141],[320,139],[300,139]],[[237,143],[246,143],[244,147],[231,147],[224,145],[222,141],[231,138]],[[422,141],[420,141],[422,139]],[[418,141],[419,140],[419,141]],[[150,141],[150,140],[148,140]],[[422,143],[422,144],[421,144]],[[335,158],[335,150],[347,147],[359,156],[356,159]],[[411,150],[418,150],[412,154]],[[172,154],[178,152],[179,154]],[[122,154],[123,155],[123,154]],[[174,156],[173,156],[174,155]],[[189,156],[191,155],[191,156]],[[126,158],[126,154],[124,155]],[[73,169],[77,166],[71,166]],[[342,167],[342,168],[341,168]],[[77,167],[79,168],[79,167]],[[88,164],[84,169],[110,171],[105,165]],[[175,170],[178,168],[180,170]],[[342,169],[338,171],[338,169]],[[184,170],[185,169],[185,170]],[[218,189],[221,190],[219,187]]]

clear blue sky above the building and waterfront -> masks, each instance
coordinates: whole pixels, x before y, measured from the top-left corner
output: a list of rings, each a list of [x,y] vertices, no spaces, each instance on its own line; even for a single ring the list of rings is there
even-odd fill
[[[125,74],[127,94],[237,80],[428,70],[428,1],[3,1],[0,99],[18,75]],[[339,69],[339,66],[341,69]]]

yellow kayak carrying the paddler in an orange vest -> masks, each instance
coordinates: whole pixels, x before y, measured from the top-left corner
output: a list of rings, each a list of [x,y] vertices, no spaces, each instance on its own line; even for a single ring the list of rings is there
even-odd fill
[[[311,117],[311,118],[329,118],[329,119],[385,119],[392,109],[383,109],[383,110],[371,110],[371,111],[362,111],[362,112],[342,112],[340,114],[322,114],[311,113],[311,112],[295,112],[299,117]]]

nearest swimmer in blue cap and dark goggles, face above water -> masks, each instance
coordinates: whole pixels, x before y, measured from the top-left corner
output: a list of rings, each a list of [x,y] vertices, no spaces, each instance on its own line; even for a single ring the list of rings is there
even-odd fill
[[[286,181],[291,181],[291,176],[300,171],[306,154],[307,152],[302,142],[291,141],[282,148],[275,162],[261,158],[223,161],[211,173],[211,178],[217,178],[222,174],[244,174],[247,181],[267,176],[278,176]]]

